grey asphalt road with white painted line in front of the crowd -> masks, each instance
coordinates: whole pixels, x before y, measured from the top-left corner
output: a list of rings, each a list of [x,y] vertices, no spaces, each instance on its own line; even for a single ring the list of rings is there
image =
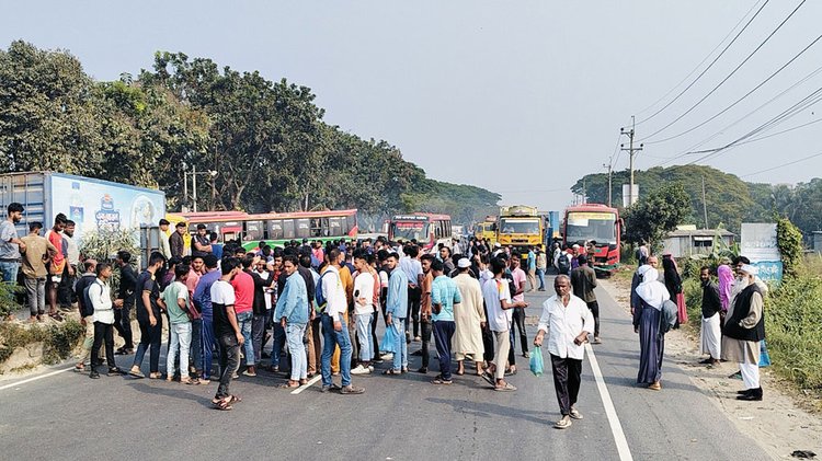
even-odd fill
[[[539,315],[547,295],[527,297],[529,315]],[[276,389],[283,376],[260,372],[235,381],[232,392],[243,402],[231,412],[212,408],[215,383],[92,381],[67,371],[0,383],[0,458],[769,459],[677,366],[664,368],[661,392],[638,388],[630,321],[607,292],[597,289],[597,296],[604,344],[593,351],[602,379],[589,355],[578,404],[584,419],[567,430],[551,427],[559,411],[550,372],[534,377],[521,356],[520,372],[510,377],[518,387],[513,393],[493,392],[468,374],[433,385],[435,372],[429,372],[354,377],[366,388],[363,395],[323,394],[319,383],[293,394]],[[529,329],[533,339],[536,326]],[[411,359],[411,369],[419,368],[420,358]]]

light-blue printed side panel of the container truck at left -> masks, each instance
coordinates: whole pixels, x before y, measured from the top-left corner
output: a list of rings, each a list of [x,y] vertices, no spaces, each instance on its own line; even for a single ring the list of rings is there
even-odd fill
[[[156,227],[165,216],[165,196],[160,191],[107,181],[52,174],[52,210],[77,223],[75,237],[98,230]]]

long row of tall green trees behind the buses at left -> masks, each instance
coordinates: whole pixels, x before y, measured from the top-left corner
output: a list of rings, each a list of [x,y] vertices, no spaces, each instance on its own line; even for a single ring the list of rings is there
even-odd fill
[[[199,209],[358,208],[374,223],[431,211],[469,223],[495,208],[499,194],[431,180],[389,141],[327,124],[315,99],[183,53],[158,51],[136,78],[95,81],[68,51],[18,41],[0,50],[0,172],[158,187],[171,210],[189,205],[193,168],[216,172],[199,176]]]

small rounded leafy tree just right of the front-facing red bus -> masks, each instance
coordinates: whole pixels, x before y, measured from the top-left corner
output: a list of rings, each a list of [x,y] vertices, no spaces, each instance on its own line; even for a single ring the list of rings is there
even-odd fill
[[[626,240],[658,249],[667,232],[690,216],[690,199],[681,183],[665,184],[625,212]]]

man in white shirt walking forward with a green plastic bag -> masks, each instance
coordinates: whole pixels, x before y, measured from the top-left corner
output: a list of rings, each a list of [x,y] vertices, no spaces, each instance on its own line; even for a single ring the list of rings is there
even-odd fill
[[[541,346],[543,337],[550,330],[548,353],[551,356],[553,388],[562,413],[562,418],[553,427],[566,429],[571,426],[571,418],[582,419],[582,414],[573,405],[580,392],[584,344],[587,335],[594,333],[594,315],[585,301],[571,295],[571,279],[567,275],[557,276],[553,290],[557,295],[543,303],[539,332],[534,345]]]

